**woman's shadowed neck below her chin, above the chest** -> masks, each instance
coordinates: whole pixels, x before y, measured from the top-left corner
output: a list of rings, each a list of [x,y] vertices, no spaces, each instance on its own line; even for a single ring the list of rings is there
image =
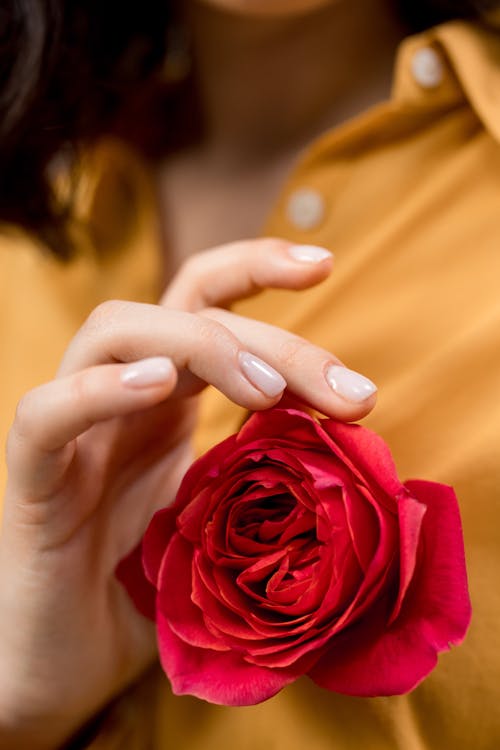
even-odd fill
[[[204,149],[228,166],[279,158],[386,98],[407,32],[391,0],[336,0],[286,19],[193,0]]]

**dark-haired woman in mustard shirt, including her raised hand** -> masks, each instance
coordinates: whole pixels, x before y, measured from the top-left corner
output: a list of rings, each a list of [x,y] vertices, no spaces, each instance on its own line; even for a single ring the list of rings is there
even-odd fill
[[[182,17],[188,44],[172,21],[170,149],[151,194],[116,143],[85,157],[76,188],[68,177],[75,140],[111,130],[149,140],[133,126],[150,92],[136,87],[126,111],[121,103],[130,71],[147,77],[160,57],[135,16],[121,38],[90,5],[37,6],[50,8],[60,47],[49,52],[48,27],[44,36],[32,13],[31,68],[10,50],[24,88],[5,85],[5,432],[25,395],[8,438],[0,546],[3,746],[494,747],[496,32],[449,22],[403,42],[407,20],[388,0],[193,1]],[[422,6],[422,23],[453,18],[444,5]],[[112,40],[114,68],[99,34]],[[68,78],[77,59],[95,61],[81,84]],[[39,69],[50,73],[33,88]],[[273,205],[272,239],[233,242],[256,235]],[[33,234],[54,253],[72,248],[72,259],[40,253]],[[327,277],[303,297],[267,292],[238,316],[222,309]],[[145,304],[160,280],[171,282],[162,306]],[[105,301],[114,297],[137,301]],[[475,610],[466,644],[400,698],[356,700],[307,681],[250,709],[174,698],[154,671],[143,674],[154,631],[113,571],[175,494],[193,431],[207,445],[240,419],[216,393],[198,419],[192,396],[208,382],[244,409],[265,409],[287,386],[357,420],[374,406],[371,378],[380,403],[367,422],[401,475],[453,484],[460,498]]]

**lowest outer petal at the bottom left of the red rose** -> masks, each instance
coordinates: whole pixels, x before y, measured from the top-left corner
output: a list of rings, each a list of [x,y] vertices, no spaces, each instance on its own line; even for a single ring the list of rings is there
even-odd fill
[[[275,695],[297,674],[248,664],[236,651],[196,648],[178,638],[159,613],[157,621],[160,660],[176,695],[225,706],[250,706]]]

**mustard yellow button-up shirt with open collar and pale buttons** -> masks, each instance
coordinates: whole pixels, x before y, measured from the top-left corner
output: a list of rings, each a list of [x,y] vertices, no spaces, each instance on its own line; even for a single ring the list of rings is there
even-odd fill
[[[152,299],[157,292],[153,204],[140,169],[112,147],[97,161],[107,166],[88,187],[87,210],[96,244],[116,245],[109,255],[87,248],[61,268],[26,238],[0,243],[2,436],[17,398],[51,377],[100,299]],[[136,190],[124,191],[124,205],[122,183]],[[124,227],[131,196],[141,210]],[[500,34],[454,22],[406,40],[390,100],[310,146],[265,232],[330,247],[335,270],[313,290],[266,292],[238,312],[293,330],[371,377],[379,401],[365,423],[390,445],[400,477],[455,487],[471,629],[463,646],[443,654],[422,685],[401,697],[350,698],[304,678],[258,706],[225,708],[173,696],[153,670],[118,701],[92,748],[495,750]],[[234,431],[240,418],[207,393],[200,449]]]

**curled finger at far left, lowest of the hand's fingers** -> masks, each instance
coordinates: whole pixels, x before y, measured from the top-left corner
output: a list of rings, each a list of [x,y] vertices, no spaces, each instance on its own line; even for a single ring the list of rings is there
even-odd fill
[[[54,469],[63,470],[71,458],[60,449],[98,422],[163,401],[176,381],[172,361],[156,357],[91,367],[33,389],[19,403],[9,433],[12,475],[40,491],[46,480],[54,481]]]

